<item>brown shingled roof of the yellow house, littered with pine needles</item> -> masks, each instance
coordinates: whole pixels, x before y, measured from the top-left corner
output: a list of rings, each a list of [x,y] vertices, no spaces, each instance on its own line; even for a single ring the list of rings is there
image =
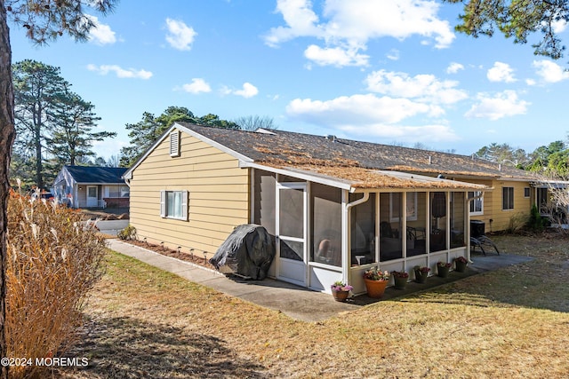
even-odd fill
[[[356,187],[410,186],[409,181],[413,177],[401,178],[389,175],[389,172],[385,171],[414,173],[425,177],[437,177],[440,174],[445,178],[457,180],[533,178],[533,174],[528,171],[468,155],[284,130],[228,130],[185,122],[180,122],[180,126],[193,130],[221,146],[226,146],[253,162],[276,168],[317,172],[349,180],[352,186]],[[448,182],[450,180],[433,181],[429,185],[425,183],[420,185],[415,183],[415,185],[452,187],[453,184]],[[455,183],[454,186],[461,187],[459,183]]]

